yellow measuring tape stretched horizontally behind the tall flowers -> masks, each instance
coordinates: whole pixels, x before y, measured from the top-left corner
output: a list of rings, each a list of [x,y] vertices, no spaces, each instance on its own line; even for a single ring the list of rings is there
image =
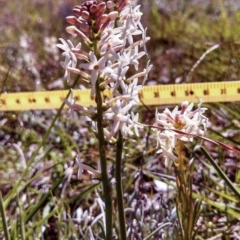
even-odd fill
[[[2,93],[0,111],[44,110],[59,108],[68,90]],[[110,91],[105,91],[111,96]],[[95,105],[90,90],[74,90],[76,103]],[[240,101],[240,81],[188,83],[145,86],[139,97],[145,105],[179,104],[182,101],[233,102]],[[141,103],[140,103],[141,104]]]

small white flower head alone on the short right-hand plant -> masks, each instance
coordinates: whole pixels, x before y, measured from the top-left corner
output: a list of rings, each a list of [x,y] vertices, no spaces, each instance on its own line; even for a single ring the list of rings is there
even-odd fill
[[[182,102],[181,109],[176,106],[171,112],[168,108],[163,113],[156,109],[154,126],[157,130],[158,153],[162,153],[167,163],[169,159],[177,160],[174,154],[178,140],[193,141],[194,136],[203,136],[207,129],[208,119],[203,115],[207,108],[202,108],[202,101],[196,110],[193,103]]]

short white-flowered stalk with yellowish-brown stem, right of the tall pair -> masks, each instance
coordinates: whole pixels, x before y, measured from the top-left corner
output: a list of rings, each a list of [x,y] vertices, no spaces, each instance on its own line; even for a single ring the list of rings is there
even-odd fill
[[[157,129],[158,153],[165,157],[165,165],[172,160],[176,172],[176,208],[179,231],[178,239],[191,240],[194,238],[194,226],[200,214],[201,201],[192,199],[192,170],[194,159],[187,161],[185,147],[193,141],[193,136],[203,136],[208,119],[203,115],[202,101],[196,110],[193,104],[182,102],[181,109],[174,108],[171,112],[165,109],[163,113],[156,111],[154,127]]]

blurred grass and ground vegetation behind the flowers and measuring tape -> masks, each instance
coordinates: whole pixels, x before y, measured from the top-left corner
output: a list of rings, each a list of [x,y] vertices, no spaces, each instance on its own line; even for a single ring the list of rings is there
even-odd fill
[[[61,81],[61,53],[55,45],[59,37],[69,38],[65,17],[76,4],[79,1],[0,1],[1,93],[69,89],[72,82]],[[239,1],[148,0],[141,5],[154,65],[147,84],[239,80]],[[239,149],[240,103],[206,106],[211,122],[207,137]],[[154,109],[136,110],[142,122],[152,123]],[[140,140],[126,143],[124,196],[132,239],[176,238],[175,173],[155,154],[155,144],[154,135],[144,132]],[[189,158],[195,145],[186,149]],[[196,239],[240,239],[240,200],[229,188],[239,191],[240,156],[203,145],[211,158],[195,153],[193,197],[203,201]],[[148,152],[145,158],[143,149]],[[101,191],[89,174],[79,180],[78,158],[97,167],[96,140],[82,116],[69,119],[65,111],[57,115],[56,110],[0,112],[0,239],[93,239],[91,231],[99,235],[95,239],[103,238],[97,221]],[[108,159],[111,166],[111,148]],[[29,162],[34,163],[30,168]],[[71,171],[71,178],[66,177]],[[172,225],[161,228],[166,222]]]

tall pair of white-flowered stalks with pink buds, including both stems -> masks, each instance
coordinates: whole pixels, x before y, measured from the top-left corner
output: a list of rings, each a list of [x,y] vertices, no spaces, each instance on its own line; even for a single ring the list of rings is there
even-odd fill
[[[71,110],[81,111],[92,120],[93,130],[99,141],[101,180],[106,205],[106,239],[112,239],[112,199],[106,163],[106,142],[116,143],[116,192],[121,239],[126,239],[125,217],[121,186],[121,165],[123,138],[138,135],[138,114],[131,109],[137,104],[138,91],[144,85],[152,65],[147,64],[138,72],[139,59],[147,54],[146,29],[140,20],[140,6],[131,6],[130,1],[86,1],[73,9],[75,16],[67,17],[71,26],[67,32],[78,37],[80,43],[75,47],[67,40],[60,39],[58,44],[65,60],[61,62],[65,69],[64,79],[78,74],[89,83],[91,97],[97,107],[89,108],[75,103],[73,93],[65,103]],[[137,38],[137,39],[136,39]],[[82,49],[85,43],[89,52]],[[78,61],[80,64],[78,65]],[[135,71],[135,73],[130,74]],[[141,79],[141,83],[139,80]],[[112,97],[104,96],[110,89]]]

